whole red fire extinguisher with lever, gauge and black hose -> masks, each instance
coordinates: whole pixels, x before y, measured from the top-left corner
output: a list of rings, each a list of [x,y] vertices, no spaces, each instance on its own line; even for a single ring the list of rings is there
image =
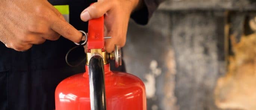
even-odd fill
[[[138,77],[112,72],[109,60],[121,65],[121,51],[104,50],[104,16],[89,21],[84,73],[64,79],[55,90],[56,110],[146,110],[145,85]]]

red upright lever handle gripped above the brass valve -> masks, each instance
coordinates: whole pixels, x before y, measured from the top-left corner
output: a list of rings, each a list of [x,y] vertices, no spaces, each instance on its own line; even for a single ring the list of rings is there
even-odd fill
[[[88,23],[87,51],[99,48],[104,51],[104,16],[91,19]]]

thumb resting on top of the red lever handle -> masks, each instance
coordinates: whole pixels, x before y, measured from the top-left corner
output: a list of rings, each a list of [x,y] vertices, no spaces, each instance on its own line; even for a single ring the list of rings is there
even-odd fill
[[[81,20],[86,22],[90,19],[99,18],[104,15],[112,7],[112,3],[106,1],[107,0],[93,3],[92,5],[84,9],[80,15]]]

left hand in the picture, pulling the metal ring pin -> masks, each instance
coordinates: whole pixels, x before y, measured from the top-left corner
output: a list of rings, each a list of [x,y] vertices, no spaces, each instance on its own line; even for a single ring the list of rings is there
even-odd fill
[[[18,51],[60,35],[76,43],[82,38],[47,0],[2,0],[0,15],[0,41]]]

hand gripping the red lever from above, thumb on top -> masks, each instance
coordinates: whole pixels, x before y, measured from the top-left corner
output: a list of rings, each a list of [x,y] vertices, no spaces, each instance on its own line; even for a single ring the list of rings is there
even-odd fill
[[[115,44],[124,46],[130,14],[139,3],[139,0],[98,0],[84,9],[80,17],[86,22],[105,14],[105,37],[112,37],[105,40],[105,50],[112,52]]]

